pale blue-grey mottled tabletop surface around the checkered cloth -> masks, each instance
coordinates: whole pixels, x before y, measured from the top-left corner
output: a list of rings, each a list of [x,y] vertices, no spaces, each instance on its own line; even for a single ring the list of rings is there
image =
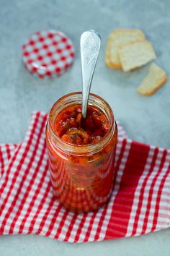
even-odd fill
[[[134,72],[104,64],[107,35],[116,27],[138,27],[155,48],[156,63],[170,72],[169,0],[0,0],[0,143],[21,142],[33,110],[49,111],[61,95],[81,90],[79,38],[99,31],[102,49],[91,88],[112,106],[128,136],[170,148],[169,82],[151,98],[136,89],[149,64]],[[76,47],[73,67],[58,79],[40,80],[22,65],[24,40],[37,30],[57,29]],[[68,244],[40,236],[1,236],[0,255],[170,255],[170,230],[131,239]]]

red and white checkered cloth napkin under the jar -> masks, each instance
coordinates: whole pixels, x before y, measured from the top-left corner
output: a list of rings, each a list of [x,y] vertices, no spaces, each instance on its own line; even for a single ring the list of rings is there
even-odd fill
[[[0,147],[0,234],[91,242],[170,226],[170,150],[129,140],[118,124],[115,187],[109,203],[91,213],[71,213],[53,197],[46,121],[46,114],[33,113],[24,141]]]

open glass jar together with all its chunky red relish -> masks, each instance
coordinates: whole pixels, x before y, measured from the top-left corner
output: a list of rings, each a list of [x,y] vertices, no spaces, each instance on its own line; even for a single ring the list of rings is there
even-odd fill
[[[102,207],[112,194],[117,125],[108,103],[89,95],[86,118],[81,93],[55,102],[46,129],[54,195],[68,210]]]

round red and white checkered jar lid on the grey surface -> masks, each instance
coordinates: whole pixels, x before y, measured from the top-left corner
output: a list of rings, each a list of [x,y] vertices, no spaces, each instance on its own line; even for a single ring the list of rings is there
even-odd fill
[[[40,78],[62,74],[73,63],[73,57],[73,43],[57,30],[37,32],[22,46],[24,66]]]

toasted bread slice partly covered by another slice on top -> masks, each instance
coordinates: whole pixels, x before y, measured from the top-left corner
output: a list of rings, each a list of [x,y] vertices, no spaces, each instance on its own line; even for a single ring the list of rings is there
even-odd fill
[[[118,48],[120,45],[134,42],[136,40],[144,40],[145,35],[141,30],[137,29],[116,29],[107,38],[107,47],[105,54],[105,63],[108,67],[121,69]]]

